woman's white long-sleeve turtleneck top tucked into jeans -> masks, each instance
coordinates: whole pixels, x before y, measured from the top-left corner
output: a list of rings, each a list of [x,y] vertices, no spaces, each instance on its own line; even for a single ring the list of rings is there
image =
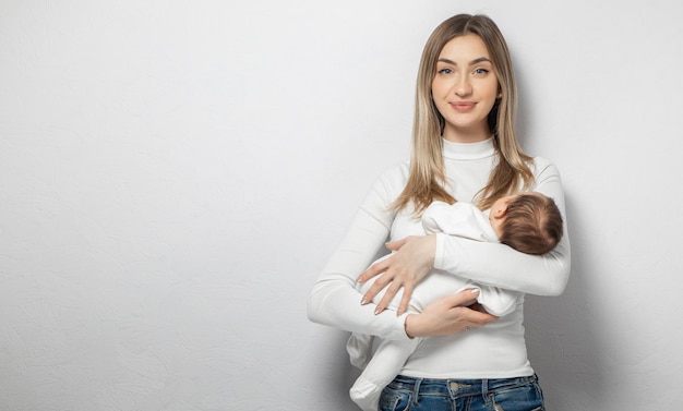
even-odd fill
[[[474,144],[444,144],[447,190],[457,201],[472,202],[498,159],[492,140]],[[360,206],[342,243],[333,253],[311,292],[309,318],[352,333],[395,340],[407,339],[405,316],[374,315],[374,304],[360,305],[356,278],[384,247],[387,239],[422,234],[411,209],[391,208],[408,179],[408,164],[387,170]],[[548,160],[534,159],[532,191],[555,201],[565,216],[562,183]],[[565,225],[566,226],[566,225]],[[541,295],[559,294],[570,275],[566,227],[558,246],[544,255],[529,255],[506,245],[436,234],[434,268],[472,281]],[[524,340],[523,304],[484,327],[427,338],[406,362],[402,374],[424,378],[506,378],[532,374]]]

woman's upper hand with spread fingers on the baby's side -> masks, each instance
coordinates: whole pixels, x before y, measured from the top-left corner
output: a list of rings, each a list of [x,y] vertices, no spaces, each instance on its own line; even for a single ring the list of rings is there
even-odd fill
[[[412,289],[434,266],[436,235],[411,235],[387,243],[386,247],[394,251],[394,253],[387,258],[373,264],[358,277],[359,282],[364,282],[381,275],[366,292],[361,304],[372,301],[388,285],[375,310],[375,314],[379,314],[386,309],[398,290],[403,288],[403,297],[396,311],[396,314],[400,315],[408,309]]]

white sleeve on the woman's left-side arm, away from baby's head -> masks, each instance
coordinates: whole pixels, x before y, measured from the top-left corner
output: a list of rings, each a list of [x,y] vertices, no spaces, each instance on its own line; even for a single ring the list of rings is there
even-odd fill
[[[309,297],[309,319],[392,340],[408,340],[405,317],[384,311],[375,315],[373,303],[361,305],[356,278],[373,261],[386,242],[395,211],[391,204],[405,185],[407,167],[385,172],[356,213],[342,243],[333,253]]]

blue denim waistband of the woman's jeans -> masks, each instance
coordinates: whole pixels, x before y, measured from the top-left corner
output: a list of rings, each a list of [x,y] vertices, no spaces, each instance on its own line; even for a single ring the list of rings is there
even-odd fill
[[[536,375],[515,378],[491,378],[491,379],[439,379],[439,378],[416,378],[398,375],[392,382],[394,389],[404,389],[416,395],[445,395],[450,397],[483,395],[500,389],[508,389],[535,383]]]

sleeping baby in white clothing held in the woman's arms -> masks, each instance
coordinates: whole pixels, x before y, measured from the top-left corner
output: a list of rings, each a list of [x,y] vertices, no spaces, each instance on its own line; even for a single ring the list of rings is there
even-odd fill
[[[421,222],[428,234],[443,232],[478,241],[501,242],[527,254],[551,251],[563,233],[562,215],[555,203],[535,192],[499,198],[493,203],[488,218],[469,203],[450,205],[434,202],[422,214]],[[372,282],[360,285],[360,291],[367,291]],[[419,313],[436,298],[465,288],[478,289],[477,302],[495,316],[512,313],[522,297],[519,292],[480,286],[454,275],[433,271],[414,290],[409,311]],[[395,310],[400,295],[394,298],[390,309]],[[409,341],[382,340],[372,354],[373,339],[372,336],[352,334],[347,343],[351,363],[364,368],[350,389],[351,399],[364,411],[378,410],[382,389],[400,372],[421,341],[420,338]]]

